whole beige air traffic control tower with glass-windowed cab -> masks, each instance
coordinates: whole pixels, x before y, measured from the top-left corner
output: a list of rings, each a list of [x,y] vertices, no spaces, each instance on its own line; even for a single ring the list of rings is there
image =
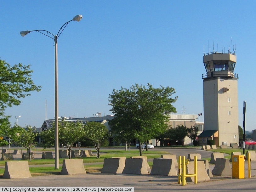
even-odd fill
[[[206,74],[203,79],[204,132],[213,133],[218,146],[238,144],[238,94],[234,73],[236,54],[211,52],[204,54]]]

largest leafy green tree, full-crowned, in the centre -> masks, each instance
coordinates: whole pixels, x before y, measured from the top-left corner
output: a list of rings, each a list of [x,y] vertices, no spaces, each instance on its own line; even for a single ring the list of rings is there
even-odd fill
[[[171,98],[174,93],[174,88],[153,88],[149,83],[147,87],[135,84],[130,89],[114,89],[109,95],[109,105],[112,106],[110,111],[115,114],[115,118],[109,121],[111,130],[117,129],[119,133],[126,131],[134,135],[139,141],[139,154],[142,155],[141,142],[167,129],[165,122],[168,116],[165,111],[176,112],[172,103],[178,97]]]

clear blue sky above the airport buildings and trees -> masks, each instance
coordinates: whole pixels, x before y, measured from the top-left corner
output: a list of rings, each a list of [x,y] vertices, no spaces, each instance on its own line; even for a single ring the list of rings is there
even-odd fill
[[[32,79],[42,91],[6,110],[21,116],[20,126],[40,127],[54,118],[54,41],[38,32],[57,34],[59,116],[110,115],[113,89],[138,83],[176,89],[178,114],[203,113],[203,46],[215,51],[236,45],[239,125],[243,100],[246,129],[254,129],[255,1],[1,1],[0,57],[10,65],[31,64]],[[209,47],[208,47],[209,42]],[[201,117],[203,121],[203,116]]]

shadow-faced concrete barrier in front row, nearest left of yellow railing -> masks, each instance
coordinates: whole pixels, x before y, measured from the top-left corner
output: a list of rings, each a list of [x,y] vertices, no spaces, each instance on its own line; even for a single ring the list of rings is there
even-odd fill
[[[177,176],[177,170],[174,166],[174,159],[154,158],[150,174]]]

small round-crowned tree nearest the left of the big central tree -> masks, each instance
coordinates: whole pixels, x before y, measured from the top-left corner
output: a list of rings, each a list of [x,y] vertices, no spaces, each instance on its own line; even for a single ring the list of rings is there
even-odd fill
[[[108,138],[108,130],[100,122],[89,121],[84,126],[85,138],[90,139],[96,148],[97,158],[100,158],[100,146]]]

